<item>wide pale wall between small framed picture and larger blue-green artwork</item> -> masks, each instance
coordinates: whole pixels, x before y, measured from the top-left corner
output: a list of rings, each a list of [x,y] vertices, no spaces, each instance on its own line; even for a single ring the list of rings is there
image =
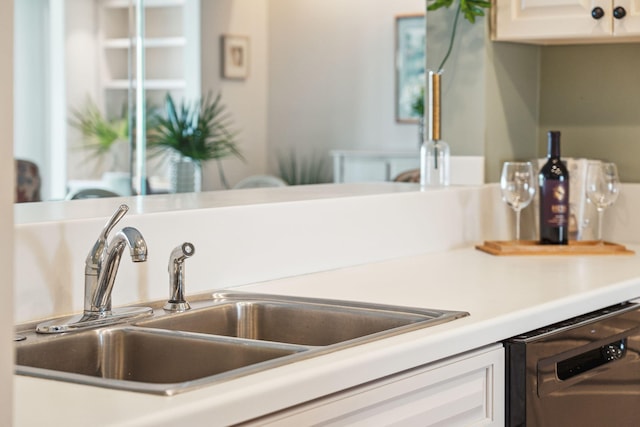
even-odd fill
[[[271,0],[269,161],[278,150],[418,149],[396,123],[395,16],[424,0]]]

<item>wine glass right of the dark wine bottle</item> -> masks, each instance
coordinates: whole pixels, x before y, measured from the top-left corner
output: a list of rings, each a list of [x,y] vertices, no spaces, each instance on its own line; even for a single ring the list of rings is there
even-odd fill
[[[585,188],[587,199],[594,204],[598,211],[598,241],[602,240],[602,217],[604,210],[611,206],[620,192],[618,168],[615,163],[589,163],[587,166],[587,180]]]

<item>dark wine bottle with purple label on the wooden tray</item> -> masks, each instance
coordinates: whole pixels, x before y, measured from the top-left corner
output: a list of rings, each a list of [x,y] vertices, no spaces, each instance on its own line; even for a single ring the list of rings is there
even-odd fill
[[[560,132],[549,131],[547,162],[538,174],[540,243],[566,245],[569,235],[569,171],[560,160]]]

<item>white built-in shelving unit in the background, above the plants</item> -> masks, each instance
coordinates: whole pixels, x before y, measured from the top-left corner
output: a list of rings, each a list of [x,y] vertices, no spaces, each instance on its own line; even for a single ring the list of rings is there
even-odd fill
[[[121,114],[129,88],[136,87],[135,29],[129,28],[135,22],[135,1],[134,6],[129,0],[99,1],[99,102],[113,116]],[[146,99],[160,106],[166,93],[176,99],[198,98],[200,0],[145,0],[144,8]]]

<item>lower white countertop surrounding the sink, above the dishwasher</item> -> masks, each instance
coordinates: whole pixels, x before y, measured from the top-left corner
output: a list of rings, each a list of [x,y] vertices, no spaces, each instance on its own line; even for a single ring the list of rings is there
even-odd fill
[[[15,376],[15,425],[211,426],[251,419],[634,299],[638,258],[495,257],[468,247],[245,286],[239,289],[471,315],[173,397]]]

